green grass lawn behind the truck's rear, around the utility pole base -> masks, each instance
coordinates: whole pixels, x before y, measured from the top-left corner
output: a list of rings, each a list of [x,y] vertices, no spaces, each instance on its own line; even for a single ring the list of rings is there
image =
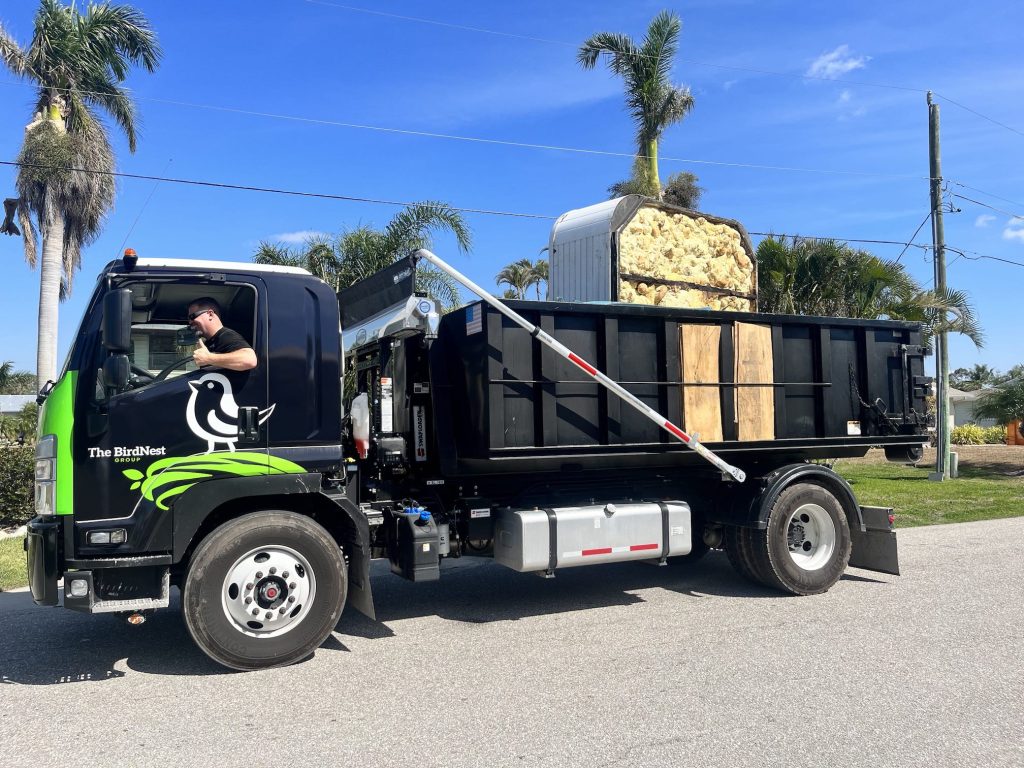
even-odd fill
[[[956,479],[930,482],[932,467],[840,461],[835,469],[861,504],[892,507],[896,527],[1024,515],[1024,477],[962,466]]]

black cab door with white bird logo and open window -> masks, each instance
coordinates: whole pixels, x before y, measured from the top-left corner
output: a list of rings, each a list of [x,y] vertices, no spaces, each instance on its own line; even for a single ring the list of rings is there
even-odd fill
[[[257,278],[131,275],[130,379],[104,393],[109,356],[96,343],[96,394],[76,428],[75,550],[79,557],[172,548],[175,499],[198,482],[266,473],[265,287]],[[251,371],[197,369],[186,308],[201,297],[256,351]],[[117,541],[104,532],[115,531]],[[124,531],[124,532],[119,532]]]

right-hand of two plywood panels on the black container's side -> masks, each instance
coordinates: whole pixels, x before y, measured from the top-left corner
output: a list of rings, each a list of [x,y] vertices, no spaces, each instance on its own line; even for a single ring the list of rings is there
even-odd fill
[[[737,323],[736,383],[771,384],[774,368],[771,327]],[[740,440],[775,439],[774,387],[736,387],[737,437]]]

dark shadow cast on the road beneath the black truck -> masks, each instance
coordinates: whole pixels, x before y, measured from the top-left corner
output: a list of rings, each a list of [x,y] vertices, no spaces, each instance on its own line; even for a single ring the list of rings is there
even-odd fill
[[[371,571],[377,621],[346,608],[317,653],[347,651],[346,637],[385,639],[389,624],[436,615],[453,622],[489,624],[593,608],[642,604],[645,589],[683,598],[786,599],[745,582],[726,557],[712,552],[697,563],[655,567],[645,563],[568,568],[555,579],[517,573],[487,558],[445,561],[439,582],[414,584],[389,572],[387,562]],[[844,580],[872,582],[848,573]],[[878,582],[884,584],[884,582]],[[128,672],[150,675],[233,674],[207,658],[193,643],[181,618],[180,596],[172,591],[168,609],[150,614],[139,627],[114,615],[84,615],[62,608],[39,608],[28,593],[0,593],[5,627],[0,653],[0,686],[97,683]]]

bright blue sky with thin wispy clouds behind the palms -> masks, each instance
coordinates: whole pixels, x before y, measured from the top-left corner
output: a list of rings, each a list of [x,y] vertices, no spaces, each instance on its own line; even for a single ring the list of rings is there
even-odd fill
[[[640,39],[669,7],[683,18],[673,79],[690,86],[696,105],[667,131],[662,174],[695,172],[707,188],[702,210],[752,231],[909,240],[929,208],[924,91],[932,89],[1007,126],[938,98],[943,175],[967,185],[949,190],[990,206],[952,198],[962,210],[945,216],[947,244],[1024,262],[1024,220],[1014,219],[1024,204],[1011,202],[1024,201],[1024,67],[1012,3],[135,6],[156,28],[165,58],[156,74],[129,81],[142,129],[135,155],[116,138],[119,170],[127,173],[557,216],[605,199],[608,184],[629,175],[631,161],[614,153],[633,151],[621,84],[604,69],[581,71],[575,46],[598,31]],[[23,44],[35,8],[31,0],[0,4],[0,22]],[[14,160],[34,93],[0,72],[0,160]],[[13,179],[13,169],[0,167],[0,197],[12,195]],[[95,274],[126,239],[143,256],[247,261],[261,240],[382,226],[396,210],[122,179],[116,209],[61,305],[59,356]],[[478,214],[467,220],[470,254],[456,253],[446,238],[434,250],[484,286],[505,264],[537,258],[551,226]],[[930,244],[927,225],[916,242]],[[865,247],[887,258],[902,250]],[[0,239],[0,258],[8,316],[0,359],[32,370],[38,272],[14,238]],[[931,283],[928,252],[911,248],[902,258]],[[970,292],[988,338],[980,351],[953,338],[950,365],[1006,370],[1024,361],[1024,267],[954,253],[948,259],[949,284]]]

